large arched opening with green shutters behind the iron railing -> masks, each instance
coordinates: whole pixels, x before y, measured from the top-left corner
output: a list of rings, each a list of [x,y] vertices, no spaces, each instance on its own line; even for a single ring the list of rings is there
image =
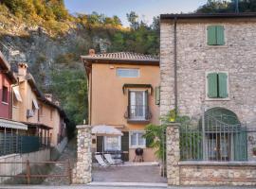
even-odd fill
[[[212,108],[204,113],[202,131],[203,158],[208,161],[246,161],[247,129],[237,115],[225,108]]]

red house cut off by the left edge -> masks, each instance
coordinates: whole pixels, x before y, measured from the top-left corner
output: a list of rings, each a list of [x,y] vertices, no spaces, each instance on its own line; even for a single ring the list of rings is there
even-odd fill
[[[16,81],[10,71],[9,62],[5,60],[0,52],[0,118],[11,119],[11,85]]]

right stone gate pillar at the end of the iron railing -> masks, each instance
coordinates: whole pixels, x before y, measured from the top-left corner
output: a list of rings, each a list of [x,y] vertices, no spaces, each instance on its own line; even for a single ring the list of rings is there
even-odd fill
[[[179,124],[169,124],[166,129],[166,169],[168,185],[179,185]]]

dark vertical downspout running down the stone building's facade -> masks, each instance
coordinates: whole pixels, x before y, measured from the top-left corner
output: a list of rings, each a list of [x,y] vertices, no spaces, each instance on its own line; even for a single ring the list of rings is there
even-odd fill
[[[174,107],[177,115],[177,17],[174,18]]]

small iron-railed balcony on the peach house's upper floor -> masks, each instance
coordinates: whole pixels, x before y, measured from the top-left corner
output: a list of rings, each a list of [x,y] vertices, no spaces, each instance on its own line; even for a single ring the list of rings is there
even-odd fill
[[[134,124],[148,124],[152,118],[152,114],[149,110],[149,106],[131,105],[127,107],[127,111],[124,114],[128,123]]]

